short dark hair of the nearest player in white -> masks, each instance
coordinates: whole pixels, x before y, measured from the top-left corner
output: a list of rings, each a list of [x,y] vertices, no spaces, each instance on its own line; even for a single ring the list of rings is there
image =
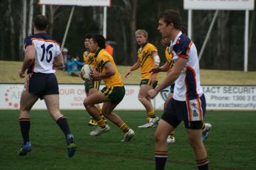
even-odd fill
[[[176,10],[166,10],[164,13],[161,13],[158,18],[164,18],[166,25],[172,23],[175,29],[181,29],[181,15]]]

